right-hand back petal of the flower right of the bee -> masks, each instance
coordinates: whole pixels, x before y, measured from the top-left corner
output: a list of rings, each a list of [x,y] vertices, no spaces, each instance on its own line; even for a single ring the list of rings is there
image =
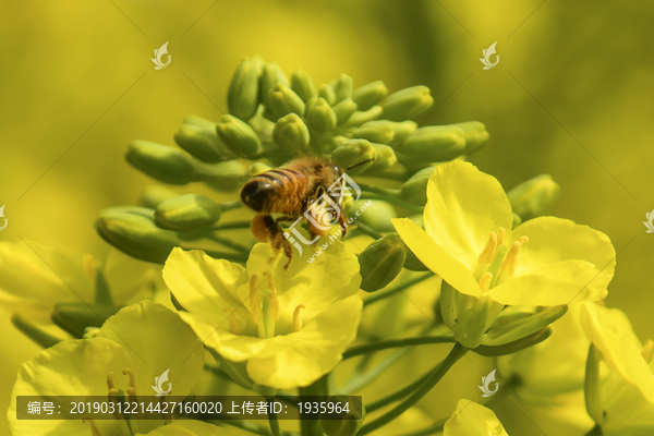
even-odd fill
[[[598,292],[606,290],[616,265],[616,251],[606,234],[568,219],[540,217],[513,229],[512,240],[523,235],[529,242],[520,252],[513,277],[538,271],[558,262],[580,259],[593,264],[598,271],[589,286]]]

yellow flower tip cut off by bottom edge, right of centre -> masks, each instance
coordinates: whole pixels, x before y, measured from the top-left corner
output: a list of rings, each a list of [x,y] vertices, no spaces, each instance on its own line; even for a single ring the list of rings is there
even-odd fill
[[[443,436],[509,436],[491,409],[461,399],[443,427]]]

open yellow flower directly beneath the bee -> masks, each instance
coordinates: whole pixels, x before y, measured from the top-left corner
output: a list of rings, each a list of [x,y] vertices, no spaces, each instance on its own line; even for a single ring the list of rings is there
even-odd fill
[[[340,241],[319,262],[306,262],[310,251],[286,271],[270,264],[268,244],[254,246],[247,268],[174,249],[164,280],[187,311],[182,319],[219,356],[243,363],[259,385],[303,387],[342,359],[362,310],[356,257]]]

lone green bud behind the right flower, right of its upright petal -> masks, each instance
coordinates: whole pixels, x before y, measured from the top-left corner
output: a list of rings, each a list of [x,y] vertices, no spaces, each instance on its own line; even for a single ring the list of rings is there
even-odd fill
[[[536,175],[507,193],[513,213],[523,221],[543,215],[556,201],[558,184],[549,174]]]

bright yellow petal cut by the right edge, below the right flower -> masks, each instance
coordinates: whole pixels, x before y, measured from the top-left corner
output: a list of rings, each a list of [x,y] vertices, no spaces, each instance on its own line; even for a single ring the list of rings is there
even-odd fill
[[[617,308],[585,303],[581,322],[589,339],[600,349],[609,368],[635,385],[654,404],[654,375],[641,355],[641,347],[627,316]]]

